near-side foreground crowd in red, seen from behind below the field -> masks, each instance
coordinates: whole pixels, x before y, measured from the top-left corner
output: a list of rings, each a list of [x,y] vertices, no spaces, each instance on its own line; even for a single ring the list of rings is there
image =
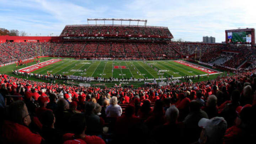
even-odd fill
[[[0,74],[0,142],[254,142],[255,72],[138,88],[60,85]]]

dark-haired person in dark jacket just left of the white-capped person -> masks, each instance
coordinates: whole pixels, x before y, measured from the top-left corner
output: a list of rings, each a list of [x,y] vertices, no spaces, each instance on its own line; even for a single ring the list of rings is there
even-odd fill
[[[198,122],[201,118],[208,118],[207,113],[201,110],[201,103],[196,100],[190,102],[190,113],[184,119],[185,135],[187,135],[187,143],[192,143],[200,136],[201,128]]]

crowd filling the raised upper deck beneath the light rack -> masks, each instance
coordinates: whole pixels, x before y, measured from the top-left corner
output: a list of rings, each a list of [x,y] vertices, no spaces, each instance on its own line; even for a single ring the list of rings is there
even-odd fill
[[[137,27],[137,26],[65,26],[61,35],[87,35],[87,34],[111,34],[111,35],[146,35],[146,36],[172,36],[168,28]]]

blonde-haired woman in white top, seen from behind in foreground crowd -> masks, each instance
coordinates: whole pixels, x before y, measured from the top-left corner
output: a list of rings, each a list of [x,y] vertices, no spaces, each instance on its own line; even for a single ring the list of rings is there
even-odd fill
[[[106,108],[107,117],[120,117],[122,114],[121,106],[117,105],[117,97],[113,96],[110,99],[110,105]]]

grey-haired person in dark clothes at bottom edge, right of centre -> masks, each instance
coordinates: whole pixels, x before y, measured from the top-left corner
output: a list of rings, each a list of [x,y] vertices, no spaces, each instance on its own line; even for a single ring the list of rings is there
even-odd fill
[[[171,140],[172,144],[181,144],[183,139],[183,124],[178,122],[178,109],[172,105],[165,112],[166,123],[153,130],[151,138],[159,144],[165,144]]]

